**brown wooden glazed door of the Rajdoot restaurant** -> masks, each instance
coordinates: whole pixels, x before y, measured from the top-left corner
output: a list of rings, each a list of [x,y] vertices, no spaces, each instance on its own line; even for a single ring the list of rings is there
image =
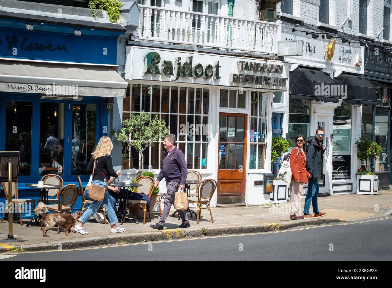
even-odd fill
[[[247,116],[219,115],[217,204],[245,203]]]

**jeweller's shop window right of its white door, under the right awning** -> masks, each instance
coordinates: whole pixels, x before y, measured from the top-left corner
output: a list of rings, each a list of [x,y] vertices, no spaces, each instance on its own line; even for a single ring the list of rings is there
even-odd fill
[[[342,104],[334,110],[332,139],[332,179],[351,178],[352,105]]]

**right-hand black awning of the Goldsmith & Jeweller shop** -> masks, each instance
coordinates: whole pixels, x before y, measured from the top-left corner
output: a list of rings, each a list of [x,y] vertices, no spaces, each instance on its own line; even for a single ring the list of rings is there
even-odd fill
[[[376,88],[365,78],[342,73],[335,78],[335,82],[338,85],[347,85],[343,87],[346,95],[341,96],[344,103],[377,105]]]

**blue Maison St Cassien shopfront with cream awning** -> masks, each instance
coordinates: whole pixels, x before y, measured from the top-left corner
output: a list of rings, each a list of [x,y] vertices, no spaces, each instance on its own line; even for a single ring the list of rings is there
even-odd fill
[[[38,199],[25,185],[47,174],[86,185],[111,98],[125,97],[127,83],[115,65],[122,32],[31,25],[0,19],[0,150],[20,151],[18,197]]]

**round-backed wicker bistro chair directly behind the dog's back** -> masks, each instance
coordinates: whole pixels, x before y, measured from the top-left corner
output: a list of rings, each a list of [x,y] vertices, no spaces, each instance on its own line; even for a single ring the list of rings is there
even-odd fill
[[[57,213],[72,213],[73,206],[75,205],[76,198],[78,198],[79,187],[75,184],[68,184],[60,189],[57,195],[58,204],[47,205],[49,211]],[[44,221],[41,221],[41,230]],[[60,234],[60,227],[57,226],[57,234]]]

